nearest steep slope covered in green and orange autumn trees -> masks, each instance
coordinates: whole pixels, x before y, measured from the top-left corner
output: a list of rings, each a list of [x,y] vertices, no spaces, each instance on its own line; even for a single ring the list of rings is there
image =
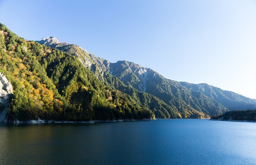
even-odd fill
[[[104,85],[69,53],[26,41],[0,24],[0,72],[13,85],[9,120],[142,119],[154,114]]]

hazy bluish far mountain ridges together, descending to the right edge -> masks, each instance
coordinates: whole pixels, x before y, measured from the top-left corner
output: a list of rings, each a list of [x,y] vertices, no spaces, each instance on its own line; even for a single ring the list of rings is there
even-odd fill
[[[164,78],[159,73],[129,61],[111,63],[89,54],[95,63],[107,73],[117,76],[126,85],[132,85],[139,91],[145,91],[162,99],[166,104],[173,104],[180,112],[186,106],[210,114],[220,115],[229,110],[248,110],[256,108],[256,100],[246,98],[232,91],[225,91],[208,84],[191,84]],[[178,102],[175,102],[175,101]]]

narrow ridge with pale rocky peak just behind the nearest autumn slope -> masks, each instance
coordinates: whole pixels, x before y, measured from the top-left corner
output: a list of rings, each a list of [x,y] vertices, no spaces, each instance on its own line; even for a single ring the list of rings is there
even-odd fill
[[[128,94],[127,97],[135,100],[136,104],[141,105],[145,109],[152,110],[156,118],[182,118],[182,115],[180,114],[180,112],[178,112],[176,107],[164,103],[164,101],[153,95],[145,92],[140,92],[132,86],[127,86],[117,77],[103,71],[102,67],[99,66],[97,63],[93,62],[92,59],[89,57],[89,52],[87,52],[85,49],[82,49],[80,46],[77,46],[75,44],[60,43],[54,37],[48,38],[48,40],[41,40],[36,42],[70,53],[71,55],[76,57],[84,65],[84,67],[92,70],[92,72],[101,82],[103,82],[107,86],[110,86],[119,91],[122,91],[123,93]],[[204,118],[208,116],[205,116],[203,113],[196,112],[192,117]]]

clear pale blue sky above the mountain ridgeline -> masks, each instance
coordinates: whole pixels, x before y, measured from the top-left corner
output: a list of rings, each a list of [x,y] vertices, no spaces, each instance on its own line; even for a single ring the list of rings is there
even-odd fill
[[[55,36],[111,62],[256,99],[255,0],[0,0],[0,22],[27,40]]]

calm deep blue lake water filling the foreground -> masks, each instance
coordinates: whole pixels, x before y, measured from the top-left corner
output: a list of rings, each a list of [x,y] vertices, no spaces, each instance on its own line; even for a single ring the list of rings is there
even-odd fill
[[[0,164],[256,164],[256,123],[0,124]]]

